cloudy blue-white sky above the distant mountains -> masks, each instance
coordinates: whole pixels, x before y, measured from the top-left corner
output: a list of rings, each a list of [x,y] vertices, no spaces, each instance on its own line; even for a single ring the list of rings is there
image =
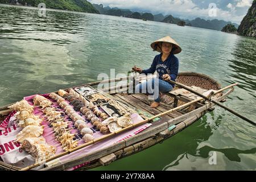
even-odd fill
[[[88,0],[119,9],[130,9],[143,13],[171,14],[181,19],[226,20],[241,23],[253,0]]]

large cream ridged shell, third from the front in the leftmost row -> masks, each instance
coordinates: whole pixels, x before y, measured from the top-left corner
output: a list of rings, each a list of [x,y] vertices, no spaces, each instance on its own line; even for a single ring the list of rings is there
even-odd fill
[[[39,137],[44,132],[44,126],[29,125],[24,127],[22,131],[16,136],[16,140],[20,143],[26,138]]]

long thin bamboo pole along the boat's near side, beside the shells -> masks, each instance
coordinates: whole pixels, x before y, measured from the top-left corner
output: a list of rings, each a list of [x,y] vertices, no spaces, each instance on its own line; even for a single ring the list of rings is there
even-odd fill
[[[217,90],[216,92],[214,92],[214,94],[220,93],[220,92],[222,92],[223,90],[228,89],[228,88],[233,87],[233,86],[234,86],[234,84],[233,84],[233,85],[226,86],[226,87],[223,88],[223,89]],[[213,95],[214,95],[214,94],[213,94]],[[64,155],[67,155],[67,154],[71,154],[72,152],[77,151],[77,150],[80,150],[81,148],[87,147],[87,146],[89,146],[90,144],[94,144],[94,143],[97,143],[97,142],[101,142],[102,140],[105,140],[105,139],[107,139],[107,138],[110,138],[110,137],[112,137],[112,136],[114,136],[114,135],[116,135],[116,134],[122,133],[123,131],[130,130],[130,129],[134,128],[134,127],[143,125],[144,123],[147,123],[148,121],[151,121],[152,119],[161,117],[161,116],[166,115],[166,114],[168,114],[168,113],[171,113],[172,111],[175,111],[175,110],[183,109],[184,107],[187,107],[187,106],[189,106],[189,105],[192,105],[193,103],[199,102],[199,101],[201,101],[201,100],[204,100],[204,98],[198,98],[197,100],[193,100],[193,101],[191,101],[191,102],[187,102],[186,104],[177,106],[177,107],[175,107],[174,109],[170,109],[170,110],[167,110],[167,111],[165,111],[165,112],[163,112],[163,113],[154,115],[154,116],[152,116],[152,117],[150,117],[150,118],[147,118],[147,119],[144,119],[143,121],[140,121],[140,122],[135,123],[135,124],[133,124],[133,125],[127,126],[127,127],[123,128],[123,129],[121,129],[121,130],[115,131],[114,133],[106,134],[106,135],[104,135],[104,136],[102,136],[102,137],[100,137],[100,138],[94,139],[94,140],[92,140],[92,141],[90,141],[90,142],[88,142],[88,143],[85,143],[85,144],[82,144],[81,146],[78,146],[78,147],[76,147],[76,148],[73,148],[72,150],[65,151],[65,152],[63,152],[63,153],[61,153],[61,154],[58,154],[58,155],[53,156],[53,157],[51,157],[51,158],[49,158],[49,159],[46,159],[46,160],[44,160],[43,162],[35,163],[35,164],[32,164],[31,166],[22,168],[22,169],[20,169],[20,171],[27,171],[27,170],[29,170],[29,169],[38,167],[38,166],[40,166],[40,165],[42,165],[42,164],[44,164],[44,163],[47,163],[47,162],[49,162],[49,161],[51,161],[51,160],[60,158],[61,156],[64,156]]]

